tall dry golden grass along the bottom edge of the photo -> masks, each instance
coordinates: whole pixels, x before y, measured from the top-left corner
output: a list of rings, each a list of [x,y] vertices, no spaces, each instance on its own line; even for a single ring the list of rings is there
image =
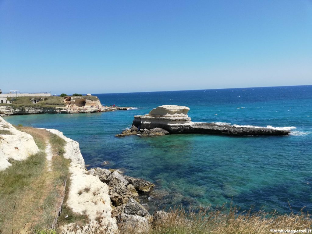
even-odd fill
[[[84,227],[74,227],[59,233],[104,234],[111,233],[109,226],[89,223]],[[218,210],[199,209],[190,212],[183,209],[171,210],[163,218],[154,219],[149,227],[141,229],[136,226],[119,226],[120,234],[267,234],[274,230],[309,230],[312,229],[311,217],[308,214],[284,214],[263,211],[238,212],[221,207]],[[95,226],[91,228],[92,226]],[[91,230],[92,229],[92,230]],[[143,232],[139,232],[139,229]],[[312,232],[312,231],[311,231]],[[293,232],[295,233],[295,232]],[[309,233],[306,231],[306,233]]]

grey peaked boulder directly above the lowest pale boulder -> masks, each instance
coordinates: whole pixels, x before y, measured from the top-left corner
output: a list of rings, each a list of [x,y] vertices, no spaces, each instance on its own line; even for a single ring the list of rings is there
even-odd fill
[[[137,202],[133,198],[130,198],[126,204],[116,207],[114,210],[114,213],[115,214],[125,213],[128,215],[138,215],[141,217],[146,217],[148,219],[151,217],[149,212],[139,202]]]

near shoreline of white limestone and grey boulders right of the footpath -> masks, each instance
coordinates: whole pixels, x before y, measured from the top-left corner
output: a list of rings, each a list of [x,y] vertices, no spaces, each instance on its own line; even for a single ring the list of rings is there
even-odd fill
[[[55,129],[46,129],[66,141],[65,158],[71,159],[71,185],[66,205],[73,212],[85,213],[90,219],[91,229],[110,227],[110,233],[118,230],[136,230],[146,233],[152,223],[159,221],[166,212],[154,212],[152,215],[139,203],[139,195],[149,195],[154,184],[140,178],[123,175],[116,169],[85,169],[79,143],[65,137]],[[85,188],[88,188],[88,192]],[[89,192],[90,191],[90,192]],[[74,223],[61,227],[64,232]]]

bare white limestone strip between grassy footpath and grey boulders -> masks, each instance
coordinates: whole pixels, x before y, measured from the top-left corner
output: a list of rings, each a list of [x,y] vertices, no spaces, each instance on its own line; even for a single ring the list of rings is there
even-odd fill
[[[112,207],[110,206],[107,184],[100,181],[99,177],[95,177],[85,170],[85,161],[81,155],[78,142],[67,138],[56,129],[46,130],[66,141],[66,153],[63,156],[71,160],[69,167],[71,184],[66,205],[71,207],[73,212],[80,214],[85,212],[91,220],[91,230],[94,230],[94,227],[97,226],[97,220],[101,219],[102,226],[107,226],[111,229],[111,232],[107,233],[116,233],[118,228],[116,219],[111,217]],[[87,192],[85,192],[86,188],[88,189]],[[66,225],[62,229],[71,229],[73,225],[75,226],[76,224]]]

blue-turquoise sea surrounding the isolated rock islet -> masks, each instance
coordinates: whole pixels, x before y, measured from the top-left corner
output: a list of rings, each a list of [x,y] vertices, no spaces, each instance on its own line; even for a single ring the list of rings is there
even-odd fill
[[[229,204],[241,209],[312,212],[312,85],[96,94],[103,105],[135,110],[5,117],[62,131],[80,143],[85,163],[120,168],[156,184],[142,202],[188,207]],[[192,121],[290,129],[289,136],[179,134],[117,138],[134,115],[159,105],[184,105]],[[216,115],[217,114],[217,115]]]

